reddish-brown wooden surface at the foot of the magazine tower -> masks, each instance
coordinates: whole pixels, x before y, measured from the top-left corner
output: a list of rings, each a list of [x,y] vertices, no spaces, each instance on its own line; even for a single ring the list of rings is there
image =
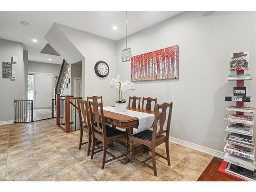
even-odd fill
[[[224,175],[219,172],[219,167],[222,163],[222,159],[214,157],[208,166],[204,169],[204,172],[198,178],[197,181],[240,181],[236,178]]]

